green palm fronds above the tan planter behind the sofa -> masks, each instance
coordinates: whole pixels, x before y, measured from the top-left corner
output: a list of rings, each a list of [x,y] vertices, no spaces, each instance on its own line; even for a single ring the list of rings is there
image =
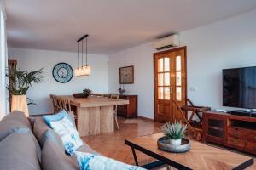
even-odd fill
[[[6,77],[9,77],[9,84],[7,89],[12,95],[26,95],[29,88],[32,87],[32,83],[39,83],[43,80],[43,69],[38,71],[20,71],[14,68],[8,69]],[[34,104],[31,99],[29,104]]]

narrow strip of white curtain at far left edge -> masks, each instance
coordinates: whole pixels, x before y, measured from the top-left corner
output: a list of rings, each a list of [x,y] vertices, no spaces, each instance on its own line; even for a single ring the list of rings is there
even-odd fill
[[[5,88],[7,82],[5,73],[8,63],[5,16],[4,3],[0,3],[0,120],[8,113],[7,90]]]

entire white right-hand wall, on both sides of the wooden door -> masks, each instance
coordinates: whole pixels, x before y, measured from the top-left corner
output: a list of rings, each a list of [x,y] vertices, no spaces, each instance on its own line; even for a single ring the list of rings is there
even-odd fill
[[[188,52],[188,96],[195,105],[221,108],[222,69],[256,66],[255,16],[253,10],[180,33]],[[109,55],[109,92],[119,88],[119,67],[135,65],[135,83],[125,89],[138,94],[138,115],[148,118],[154,118],[153,53],[148,42]]]

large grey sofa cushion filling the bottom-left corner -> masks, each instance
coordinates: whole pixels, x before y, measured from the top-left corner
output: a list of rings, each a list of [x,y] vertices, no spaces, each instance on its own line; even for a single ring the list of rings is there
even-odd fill
[[[1,169],[38,170],[40,164],[32,133],[11,133],[0,142]]]

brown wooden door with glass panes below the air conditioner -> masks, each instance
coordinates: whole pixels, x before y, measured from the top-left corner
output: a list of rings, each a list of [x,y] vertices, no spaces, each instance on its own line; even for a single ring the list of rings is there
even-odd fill
[[[171,99],[184,105],[187,98],[186,47],[154,54],[154,121],[181,118]]]

